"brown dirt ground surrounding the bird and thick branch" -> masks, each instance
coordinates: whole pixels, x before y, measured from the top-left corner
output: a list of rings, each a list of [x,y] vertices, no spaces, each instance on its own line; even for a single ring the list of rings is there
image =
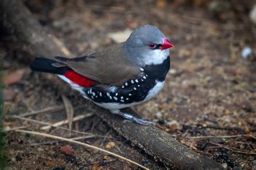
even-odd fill
[[[110,0],[25,1],[25,4],[44,28],[75,55],[113,44],[107,33],[145,24],[157,26],[174,44],[170,50],[171,70],[163,91],[133,110],[227,169],[255,169],[256,26],[248,18],[253,1],[222,2],[216,9],[210,8],[214,2],[220,3]],[[82,102],[76,92],[51,74],[44,78],[42,73],[30,71],[28,63],[35,56],[8,31],[1,36],[4,74],[22,75],[4,87],[4,127],[25,126],[25,130],[68,138],[69,131],[51,128],[45,132],[40,123],[8,116],[51,107],[48,112],[24,118],[41,123],[65,120],[63,108],[54,111],[63,106],[61,94],[76,108],[75,115],[90,113],[93,104]],[[250,46],[254,55],[242,58],[245,46]],[[79,105],[89,108],[81,111]],[[72,128],[83,133],[72,133],[71,138],[93,134],[79,141],[123,155],[150,169],[166,169],[161,162],[131,146],[96,115],[74,122]],[[61,147],[68,142],[14,131],[6,132],[5,141],[4,157],[12,169],[138,169],[78,145],[69,144],[73,153],[66,154]],[[115,146],[108,147],[112,142]]]

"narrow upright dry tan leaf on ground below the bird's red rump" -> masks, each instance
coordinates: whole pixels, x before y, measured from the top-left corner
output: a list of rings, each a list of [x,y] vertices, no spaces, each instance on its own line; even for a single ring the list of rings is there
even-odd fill
[[[73,108],[72,104],[70,103],[69,99],[66,98],[64,95],[62,95],[62,100],[65,105],[66,117],[68,118],[68,121],[69,121],[69,137],[70,137],[72,123],[73,123],[74,108]]]

